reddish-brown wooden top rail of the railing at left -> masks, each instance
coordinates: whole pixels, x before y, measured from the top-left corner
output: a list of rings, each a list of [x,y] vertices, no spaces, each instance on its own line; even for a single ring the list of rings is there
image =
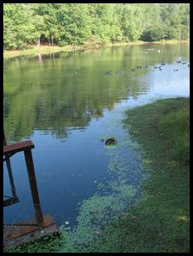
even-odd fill
[[[3,145],[3,155],[17,153],[24,150],[31,150],[33,148],[35,148],[35,146],[31,140],[25,140],[14,144]]]

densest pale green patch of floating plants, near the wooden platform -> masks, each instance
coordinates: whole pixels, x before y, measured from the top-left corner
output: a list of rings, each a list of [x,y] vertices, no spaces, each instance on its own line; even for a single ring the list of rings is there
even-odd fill
[[[112,184],[113,186],[113,184]],[[101,196],[95,194],[81,205],[78,225],[73,232],[62,229],[66,244],[63,252],[75,252],[86,248],[91,241],[97,239],[110,219],[120,216],[128,207],[129,199],[133,199],[137,190],[132,185],[115,187],[116,193]]]

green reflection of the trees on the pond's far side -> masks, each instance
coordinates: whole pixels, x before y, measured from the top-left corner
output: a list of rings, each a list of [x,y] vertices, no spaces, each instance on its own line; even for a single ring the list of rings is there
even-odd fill
[[[161,52],[157,53],[157,48]],[[123,99],[147,93],[139,77],[145,66],[187,57],[188,46],[111,47],[97,52],[55,53],[4,61],[4,129],[7,141],[22,140],[33,130],[51,130],[57,138],[67,127],[85,127]],[[147,54],[145,53],[147,52]],[[131,71],[135,66],[142,66]],[[109,76],[106,70],[111,70]],[[116,73],[116,71],[121,72]],[[156,76],[161,76],[157,74]]]

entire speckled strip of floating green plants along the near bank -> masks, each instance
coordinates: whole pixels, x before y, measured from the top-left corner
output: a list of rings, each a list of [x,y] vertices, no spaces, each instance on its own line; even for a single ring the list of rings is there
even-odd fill
[[[119,125],[119,131],[123,129],[120,122],[116,124]],[[102,145],[104,153],[109,156],[109,179],[106,183],[94,180],[98,190],[80,204],[75,228],[70,231],[61,227],[64,248],[60,252],[86,252],[89,244],[99,239],[112,219],[128,216],[129,208],[142,197],[141,183],[147,173],[142,168],[138,144],[126,133],[103,135],[99,140],[104,142],[109,138],[116,138],[115,144]]]

